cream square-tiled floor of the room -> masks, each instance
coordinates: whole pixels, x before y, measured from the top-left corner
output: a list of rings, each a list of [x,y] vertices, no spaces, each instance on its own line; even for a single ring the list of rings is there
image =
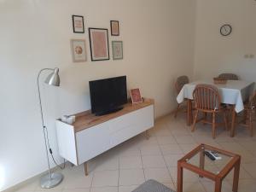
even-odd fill
[[[139,184],[153,178],[166,186],[176,188],[177,160],[199,143],[207,143],[241,154],[239,191],[256,191],[256,131],[254,137],[244,128],[238,128],[236,137],[218,128],[213,140],[209,125],[196,126],[194,133],[185,123],[183,114],[177,119],[171,115],[159,119],[150,130],[150,138],[143,134],[122,143],[89,162],[90,175],[84,176],[83,166],[67,166],[63,182],[54,189],[40,189],[38,181],[27,184],[19,192],[131,192]],[[208,168],[218,170],[218,164]],[[198,178],[195,173],[184,172],[184,192],[212,192],[213,183]],[[224,179],[223,192],[231,192],[232,173]]]

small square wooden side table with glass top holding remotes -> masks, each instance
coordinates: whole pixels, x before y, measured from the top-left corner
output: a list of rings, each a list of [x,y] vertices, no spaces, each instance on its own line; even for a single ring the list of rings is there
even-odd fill
[[[205,164],[212,160],[205,160],[205,151],[215,151],[221,156],[221,160],[215,160],[218,165],[221,165],[219,172],[211,172],[207,170]],[[212,161],[213,163],[215,161]],[[183,192],[183,168],[195,172],[199,177],[207,177],[215,182],[215,192],[221,192],[222,181],[229,172],[234,168],[233,177],[233,192],[237,192],[239,181],[241,156],[239,154],[233,154],[228,151],[214,148],[207,144],[201,144],[189,154],[186,154],[182,159],[177,161],[177,192]]]

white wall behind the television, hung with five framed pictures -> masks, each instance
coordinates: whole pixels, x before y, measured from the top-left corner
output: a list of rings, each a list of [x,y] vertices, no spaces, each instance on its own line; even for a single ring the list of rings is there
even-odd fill
[[[89,80],[127,75],[129,88],[155,99],[156,116],[175,107],[174,79],[192,76],[194,14],[191,0],[1,0],[0,190],[47,169],[36,87],[41,68],[60,68],[61,87],[42,88],[57,155],[54,119],[90,108]],[[84,15],[85,34],[73,33],[71,15]],[[109,20],[120,22],[120,37],[109,40],[124,41],[124,60],[91,62],[88,27],[109,29]],[[86,39],[89,61],[72,62],[71,38]]]

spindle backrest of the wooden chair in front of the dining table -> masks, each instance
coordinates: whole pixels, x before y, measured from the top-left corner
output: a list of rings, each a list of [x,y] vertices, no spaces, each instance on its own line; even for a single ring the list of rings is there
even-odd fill
[[[218,88],[211,84],[197,84],[193,91],[193,97],[197,109],[212,111],[220,108]]]

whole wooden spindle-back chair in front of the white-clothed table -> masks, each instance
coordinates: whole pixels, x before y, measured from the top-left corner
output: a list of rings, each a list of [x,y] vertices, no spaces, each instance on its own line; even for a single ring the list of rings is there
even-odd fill
[[[228,130],[228,122],[225,115],[225,110],[220,104],[221,98],[218,94],[218,88],[211,84],[197,84],[193,91],[195,100],[195,119],[191,131],[195,131],[195,124],[203,121],[204,124],[212,124],[212,138],[216,137],[216,126],[223,125],[216,123],[216,114],[223,113],[224,126]],[[204,113],[204,118],[197,120],[198,113]],[[212,121],[207,121],[207,113],[212,113]]]

